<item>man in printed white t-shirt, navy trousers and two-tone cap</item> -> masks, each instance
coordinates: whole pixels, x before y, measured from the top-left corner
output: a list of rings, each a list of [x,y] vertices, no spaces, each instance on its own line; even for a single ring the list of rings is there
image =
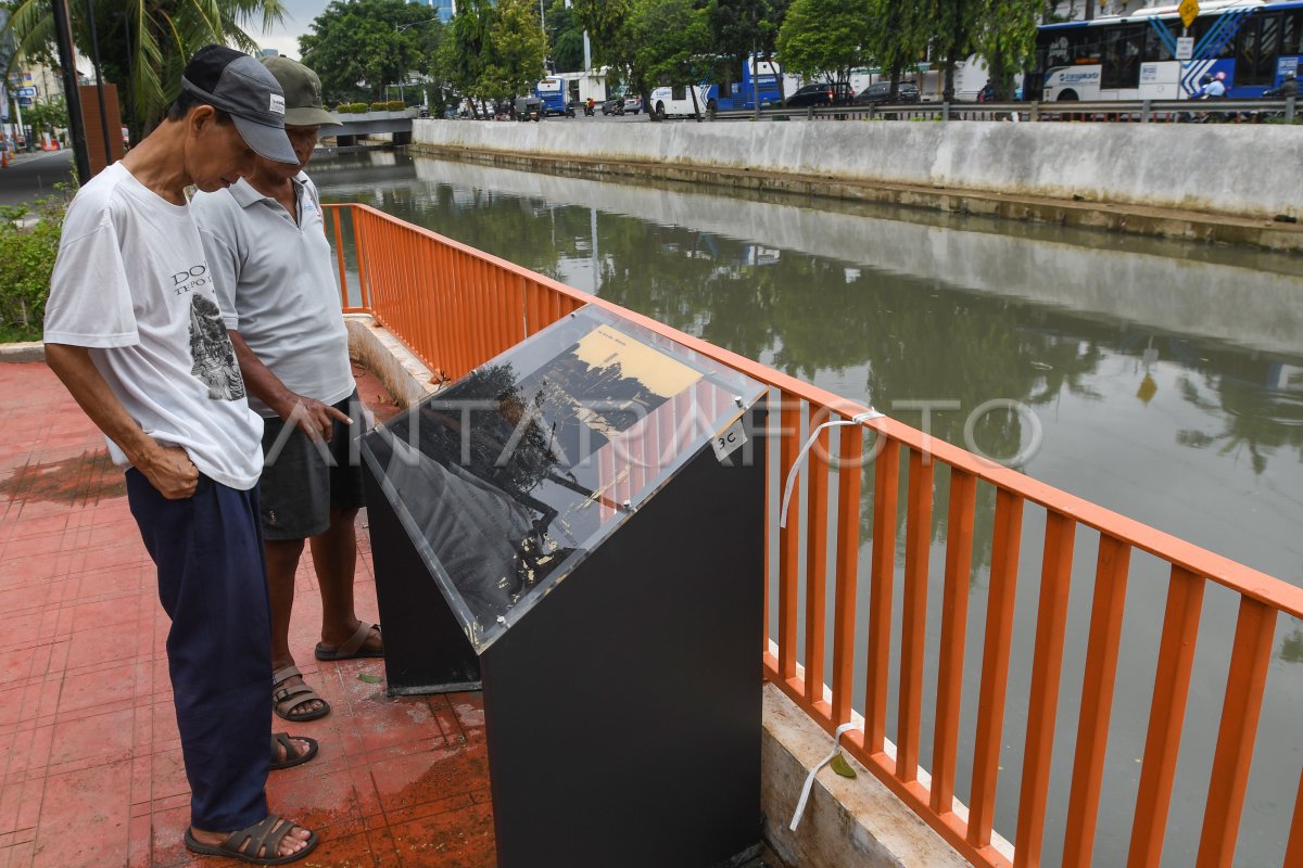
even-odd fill
[[[202,48],[167,118],[69,206],[44,337],[51,370],[128,467],[132,514],[158,566],[192,793],[185,846],[280,864],[306,856],[317,835],[268,813],[267,772],[311,759],[317,743],[271,735],[262,422],[185,197],[192,185],[233,183],[255,152],[294,159],[280,86],[248,55]]]

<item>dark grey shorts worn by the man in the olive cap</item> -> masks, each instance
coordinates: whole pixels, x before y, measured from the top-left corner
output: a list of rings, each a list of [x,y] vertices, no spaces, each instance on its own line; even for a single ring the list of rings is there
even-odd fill
[[[268,540],[302,540],[330,527],[332,509],[360,509],[362,403],[353,394],[335,405],[353,419],[335,423],[330,442],[314,444],[297,426],[265,419],[259,483],[262,532]]]

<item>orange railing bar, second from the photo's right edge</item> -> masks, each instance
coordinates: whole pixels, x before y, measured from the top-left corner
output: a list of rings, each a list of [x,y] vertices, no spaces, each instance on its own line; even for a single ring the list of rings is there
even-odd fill
[[[1276,643],[1276,617],[1277,610],[1272,606],[1240,597],[1204,808],[1204,832],[1195,863],[1197,868],[1230,868],[1235,858],[1244,791],[1253,764],[1253,742],[1257,740],[1257,718],[1263,713],[1267,670]]]

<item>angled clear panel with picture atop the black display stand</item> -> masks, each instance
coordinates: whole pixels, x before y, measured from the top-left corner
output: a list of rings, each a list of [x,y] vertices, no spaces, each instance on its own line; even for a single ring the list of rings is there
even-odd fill
[[[589,305],[366,435],[362,457],[482,653],[698,452],[760,461],[741,420],[764,394]]]

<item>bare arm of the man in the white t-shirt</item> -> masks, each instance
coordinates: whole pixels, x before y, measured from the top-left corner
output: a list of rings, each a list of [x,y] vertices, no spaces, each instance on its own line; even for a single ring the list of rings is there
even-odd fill
[[[168,500],[194,495],[199,471],[180,446],[164,446],[145,433],[108,388],[85,346],[47,344],[46,363],[104,435],[116,442],[132,466]]]

